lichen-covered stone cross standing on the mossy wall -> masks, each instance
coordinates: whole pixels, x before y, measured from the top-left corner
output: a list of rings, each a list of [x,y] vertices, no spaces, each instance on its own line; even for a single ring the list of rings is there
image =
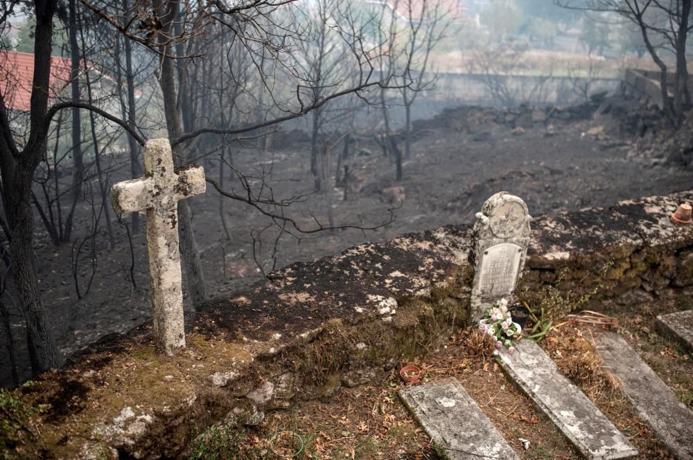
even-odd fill
[[[154,334],[157,347],[168,355],[185,347],[177,203],[204,190],[202,167],[173,170],[168,139],[148,140],[144,146],[143,177],[111,187],[116,212],[147,210]]]

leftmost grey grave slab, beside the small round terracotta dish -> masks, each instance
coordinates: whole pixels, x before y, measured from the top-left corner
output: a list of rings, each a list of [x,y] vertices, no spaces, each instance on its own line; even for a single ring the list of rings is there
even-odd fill
[[[401,389],[399,397],[448,459],[519,458],[457,378]]]

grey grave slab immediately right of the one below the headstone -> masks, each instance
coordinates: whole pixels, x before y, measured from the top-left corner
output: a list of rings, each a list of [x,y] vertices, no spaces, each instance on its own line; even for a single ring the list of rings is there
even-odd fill
[[[620,378],[640,418],[674,457],[693,460],[693,412],[674,397],[672,390],[620,335],[597,335],[595,344],[604,365]]]

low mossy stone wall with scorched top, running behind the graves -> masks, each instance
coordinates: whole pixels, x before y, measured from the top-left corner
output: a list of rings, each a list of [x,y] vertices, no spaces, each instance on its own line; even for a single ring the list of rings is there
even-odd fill
[[[693,229],[669,216],[692,200],[681,192],[536,219],[523,295],[567,311],[690,291]],[[148,325],[107,338],[15,391],[51,406],[33,448],[49,458],[177,458],[212,423],[258,423],[297,399],[378,380],[466,324],[471,247],[471,226],[447,226],[292,264],[207,302],[173,358],[155,352]]]

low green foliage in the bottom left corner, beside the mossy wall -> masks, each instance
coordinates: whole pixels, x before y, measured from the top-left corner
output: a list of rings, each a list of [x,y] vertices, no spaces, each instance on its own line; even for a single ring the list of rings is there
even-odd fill
[[[27,423],[41,407],[32,407],[0,389],[0,459],[21,459],[21,445],[33,439]]]

